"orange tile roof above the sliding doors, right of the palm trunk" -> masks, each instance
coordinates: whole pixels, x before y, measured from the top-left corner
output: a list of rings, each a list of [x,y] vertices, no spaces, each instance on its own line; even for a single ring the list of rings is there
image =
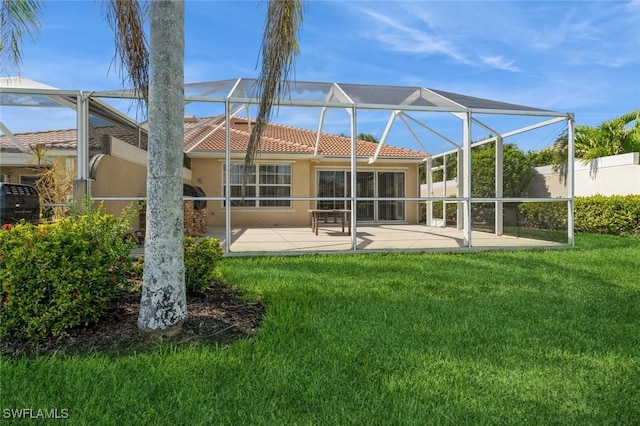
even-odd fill
[[[223,117],[199,119],[198,124],[185,125],[185,150],[187,152],[223,152],[225,146],[225,127],[220,125]],[[251,125],[247,119],[231,119],[231,151],[245,152],[251,134]],[[317,132],[282,124],[269,123],[258,146],[259,153],[313,154]],[[374,155],[378,144],[359,140],[357,155]],[[325,157],[349,157],[351,138],[322,133],[320,135],[319,155]],[[406,148],[384,145],[380,152],[382,158],[424,158],[426,154]]]

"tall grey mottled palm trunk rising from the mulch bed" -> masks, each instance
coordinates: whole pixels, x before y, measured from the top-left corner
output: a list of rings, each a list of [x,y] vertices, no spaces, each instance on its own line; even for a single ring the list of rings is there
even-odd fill
[[[182,203],[184,2],[152,1],[150,20],[147,229],[138,327],[170,334],[187,317]]]

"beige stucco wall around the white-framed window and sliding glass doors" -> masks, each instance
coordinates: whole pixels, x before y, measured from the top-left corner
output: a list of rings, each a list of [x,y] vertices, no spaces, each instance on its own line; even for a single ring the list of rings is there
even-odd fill
[[[233,159],[232,163],[242,162],[243,159]],[[312,161],[308,158],[282,160],[259,158],[258,163],[290,164],[292,169],[292,197],[314,197],[316,195],[316,175],[318,170],[350,170],[347,161]],[[192,182],[199,186],[208,197],[222,197],[224,160],[221,158],[192,158]],[[418,165],[411,163],[384,163],[378,161],[375,165],[366,162],[358,163],[358,171],[401,171],[405,173],[405,190],[407,197],[418,196],[417,173]],[[225,226],[225,208],[223,201],[209,201],[209,226]],[[310,226],[308,210],[313,208],[313,201],[294,201],[291,207],[234,207],[231,213],[232,227],[304,227]],[[417,223],[418,206],[415,201],[406,202],[406,221]]]

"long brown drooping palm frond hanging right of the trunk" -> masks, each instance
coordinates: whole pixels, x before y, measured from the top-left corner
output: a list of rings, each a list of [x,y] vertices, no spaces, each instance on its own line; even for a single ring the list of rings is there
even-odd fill
[[[262,67],[256,84],[260,104],[249,136],[242,177],[243,193],[273,104],[288,92],[289,75],[299,53],[298,32],[302,26],[302,0],[272,0],[262,39]]]

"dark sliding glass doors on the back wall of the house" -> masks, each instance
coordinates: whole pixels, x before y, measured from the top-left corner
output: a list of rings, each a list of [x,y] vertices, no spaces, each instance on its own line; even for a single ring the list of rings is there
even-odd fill
[[[366,198],[402,198],[405,196],[403,172],[358,172],[356,178],[356,218],[378,222],[405,219],[405,202],[396,200],[366,200]],[[351,172],[318,171],[318,197],[339,198],[351,196]],[[318,200],[319,209],[351,207],[349,200]]]

